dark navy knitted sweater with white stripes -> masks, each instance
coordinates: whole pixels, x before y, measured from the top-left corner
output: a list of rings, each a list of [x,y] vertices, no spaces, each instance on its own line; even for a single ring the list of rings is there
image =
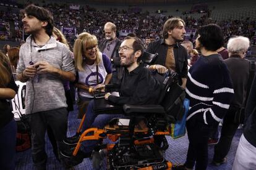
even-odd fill
[[[189,70],[186,86],[189,119],[205,124],[221,121],[234,94],[228,68],[220,54],[201,56]]]

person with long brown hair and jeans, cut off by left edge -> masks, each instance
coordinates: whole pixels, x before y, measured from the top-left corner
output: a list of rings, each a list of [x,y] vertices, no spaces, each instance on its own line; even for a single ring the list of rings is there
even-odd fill
[[[14,98],[17,91],[9,59],[0,52],[0,169],[15,169],[17,125],[6,99]]]

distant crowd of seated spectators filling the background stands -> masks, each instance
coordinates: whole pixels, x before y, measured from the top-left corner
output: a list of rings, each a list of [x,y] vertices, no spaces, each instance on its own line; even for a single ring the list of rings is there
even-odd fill
[[[160,39],[161,30],[164,22],[173,16],[166,16],[163,14],[150,14],[145,12],[145,14],[131,13],[127,10],[117,10],[108,9],[98,11],[90,6],[81,6],[80,9],[70,9],[66,4],[46,4],[46,9],[53,13],[54,24],[56,28],[61,30],[62,27],[73,27],[77,30],[77,34],[87,31],[88,33],[95,34],[99,41],[103,40],[103,26],[102,23],[108,21],[113,22],[119,31],[122,30],[132,30],[137,36],[142,38],[143,41],[147,37],[151,39]],[[10,9],[7,11],[1,11],[0,22],[6,25],[6,36],[2,36],[2,39],[15,39],[15,41],[20,41],[22,38],[22,23],[19,19],[19,12],[15,12]],[[106,17],[108,16],[108,17]],[[198,26],[202,26],[208,23],[216,23],[223,29],[224,40],[228,42],[228,39],[234,35],[244,35],[249,39],[255,36],[255,21],[251,20],[222,20],[216,22],[211,20],[210,16],[207,14],[200,18],[193,18],[189,15],[180,16],[186,22],[186,29],[197,29]],[[15,23],[15,31],[12,33],[10,31],[9,18],[13,18]],[[86,22],[85,22],[86,21]],[[139,29],[140,28],[140,29]],[[238,29],[237,29],[238,28]],[[74,35],[67,35],[67,40],[69,42],[74,42]],[[188,40],[187,38],[186,40]],[[192,34],[193,41],[195,40],[195,35]],[[254,41],[254,39],[252,39]],[[254,44],[254,42],[252,42]]]

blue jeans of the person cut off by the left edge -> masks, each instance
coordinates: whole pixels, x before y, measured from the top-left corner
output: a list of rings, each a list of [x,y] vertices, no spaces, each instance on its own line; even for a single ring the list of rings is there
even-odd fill
[[[0,129],[0,169],[15,169],[17,124],[14,120]]]

